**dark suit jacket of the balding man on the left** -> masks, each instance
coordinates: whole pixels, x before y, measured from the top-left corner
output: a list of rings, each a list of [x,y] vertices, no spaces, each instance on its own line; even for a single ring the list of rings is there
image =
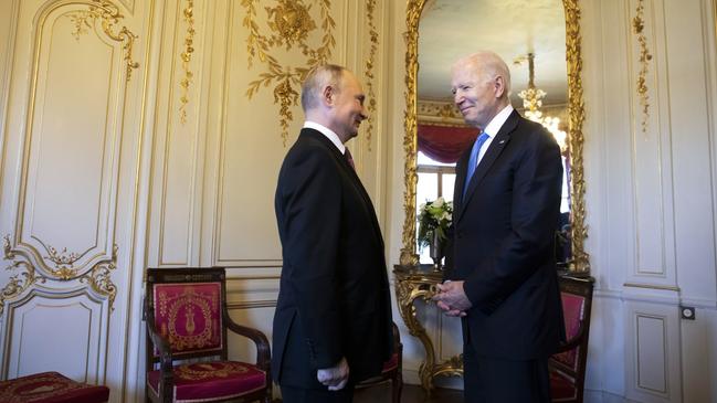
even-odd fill
[[[350,381],[381,372],[392,349],[383,240],[358,176],[331,141],[303,129],[278,174],[284,266],[274,315],[274,380],[325,388],[316,370],[346,357]]]

